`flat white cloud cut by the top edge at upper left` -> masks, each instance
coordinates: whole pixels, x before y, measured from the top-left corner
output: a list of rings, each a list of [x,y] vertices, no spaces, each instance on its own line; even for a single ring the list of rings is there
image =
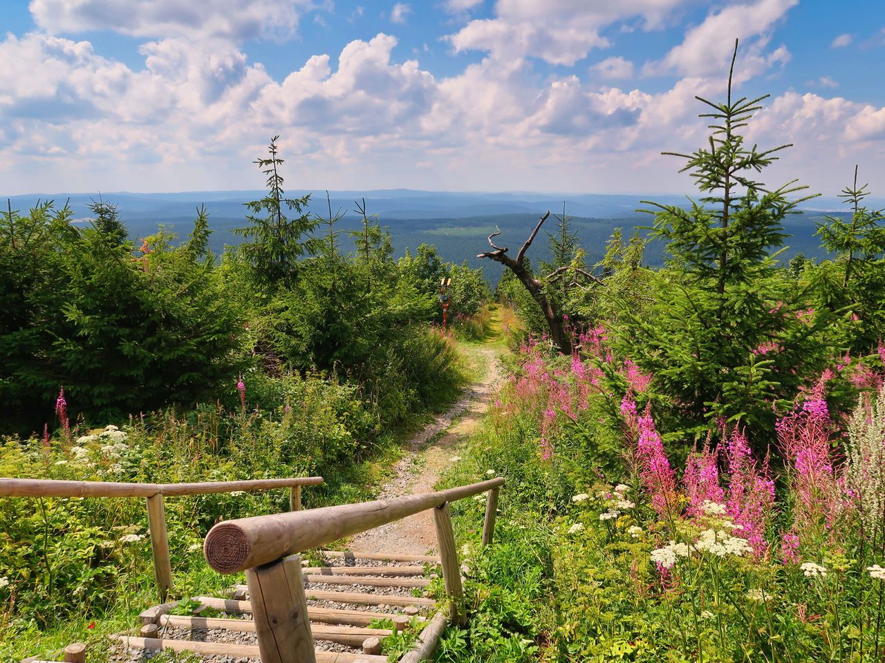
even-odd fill
[[[50,34],[112,30],[136,37],[287,37],[312,0],[31,0],[35,23]]]

